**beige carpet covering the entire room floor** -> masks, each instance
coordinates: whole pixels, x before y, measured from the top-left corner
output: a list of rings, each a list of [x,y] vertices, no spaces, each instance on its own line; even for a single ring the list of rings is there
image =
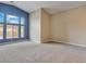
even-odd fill
[[[0,63],[86,62],[86,48],[62,43],[21,42],[0,46]]]

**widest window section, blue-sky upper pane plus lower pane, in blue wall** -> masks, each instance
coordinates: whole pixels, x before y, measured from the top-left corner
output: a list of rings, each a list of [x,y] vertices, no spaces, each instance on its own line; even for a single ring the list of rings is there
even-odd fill
[[[7,38],[19,38],[20,17],[7,15]]]

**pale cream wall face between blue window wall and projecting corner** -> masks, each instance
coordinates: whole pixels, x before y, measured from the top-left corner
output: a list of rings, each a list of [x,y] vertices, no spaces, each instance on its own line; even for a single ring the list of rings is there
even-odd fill
[[[29,13],[29,39],[40,43],[40,9]]]

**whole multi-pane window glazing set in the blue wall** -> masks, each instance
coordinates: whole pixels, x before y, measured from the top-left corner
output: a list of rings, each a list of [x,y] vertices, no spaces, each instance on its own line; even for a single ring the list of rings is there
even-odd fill
[[[4,14],[0,13],[0,39],[3,39],[3,25],[5,25],[5,38],[7,39],[25,37],[25,33],[24,33],[25,18],[24,17],[7,14],[5,24],[4,24]]]

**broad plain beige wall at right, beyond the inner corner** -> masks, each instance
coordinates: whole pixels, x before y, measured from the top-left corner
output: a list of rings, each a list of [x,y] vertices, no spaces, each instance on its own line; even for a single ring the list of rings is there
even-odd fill
[[[53,14],[51,40],[86,46],[86,7]]]

